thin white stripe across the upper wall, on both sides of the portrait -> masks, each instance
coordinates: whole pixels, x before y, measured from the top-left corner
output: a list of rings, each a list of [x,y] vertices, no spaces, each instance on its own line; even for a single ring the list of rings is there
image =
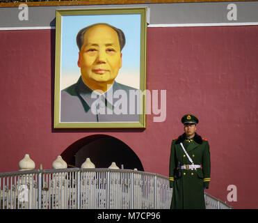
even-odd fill
[[[177,23],[177,24],[148,24],[148,28],[155,27],[196,27],[196,26],[257,26],[258,22],[225,22],[225,23]],[[29,27],[0,27],[1,30],[33,30],[56,29],[56,26],[29,26]]]

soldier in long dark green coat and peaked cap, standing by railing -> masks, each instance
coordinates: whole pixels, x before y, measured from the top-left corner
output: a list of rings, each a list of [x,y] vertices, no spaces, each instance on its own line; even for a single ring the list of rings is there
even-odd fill
[[[205,208],[204,189],[209,188],[211,162],[209,143],[196,133],[198,119],[192,114],[182,117],[184,134],[172,140],[170,151],[170,208]]]

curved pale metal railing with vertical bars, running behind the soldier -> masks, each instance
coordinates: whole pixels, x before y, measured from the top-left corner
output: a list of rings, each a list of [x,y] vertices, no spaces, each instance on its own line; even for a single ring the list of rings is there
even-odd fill
[[[168,177],[129,169],[34,169],[0,174],[0,209],[168,209]],[[230,208],[205,194],[207,208]]]

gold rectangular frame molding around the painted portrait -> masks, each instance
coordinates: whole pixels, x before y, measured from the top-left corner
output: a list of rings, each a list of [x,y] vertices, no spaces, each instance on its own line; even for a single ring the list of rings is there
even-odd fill
[[[140,91],[145,92],[146,73],[146,31],[147,7],[144,8],[108,8],[108,9],[72,9],[56,10],[56,68],[54,95],[54,128],[145,128],[145,95],[140,101],[143,114],[139,122],[61,122],[61,41],[62,17],[76,15],[131,15],[140,14]]]

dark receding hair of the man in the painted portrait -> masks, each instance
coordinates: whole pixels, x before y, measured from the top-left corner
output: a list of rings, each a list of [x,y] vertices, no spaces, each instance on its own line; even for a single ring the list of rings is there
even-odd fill
[[[120,45],[120,51],[122,51],[122,48],[124,47],[125,45],[125,36],[124,36],[124,33],[121,29],[118,29],[116,28],[115,26],[111,26],[110,24],[107,24],[107,23],[95,23],[95,24],[92,24],[90,26],[86,26],[84,27],[83,29],[81,29],[79,31],[79,33],[77,33],[77,36],[76,36],[76,43],[77,43],[77,46],[79,48],[79,50],[81,50],[81,47],[83,45],[83,41],[84,41],[84,34],[86,33],[86,31],[88,31],[88,29],[92,28],[93,26],[97,26],[97,25],[106,25],[106,26],[109,26],[111,27],[113,30],[116,31],[116,33],[118,33],[118,40],[119,40],[119,45]]]

